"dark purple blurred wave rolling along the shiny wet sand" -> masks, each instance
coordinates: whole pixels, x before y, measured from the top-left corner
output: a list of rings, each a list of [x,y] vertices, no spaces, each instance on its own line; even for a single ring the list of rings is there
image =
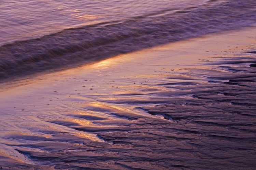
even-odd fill
[[[168,13],[72,28],[0,47],[0,79],[104,60],[161,44],[254,26],[256,2],[208,1]]]

